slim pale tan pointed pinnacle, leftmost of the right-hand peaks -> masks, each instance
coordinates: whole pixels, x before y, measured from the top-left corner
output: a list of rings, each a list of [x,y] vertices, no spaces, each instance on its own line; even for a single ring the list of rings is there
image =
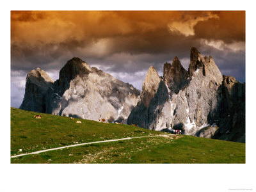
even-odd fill
[[[142,92],[141,92],[141,100],[143,105],[148,108],[151,99],[157,92],[159,83],[161,78],[157,74],[156,68],[150,67],[148,68],[147,76],[143,81]]]

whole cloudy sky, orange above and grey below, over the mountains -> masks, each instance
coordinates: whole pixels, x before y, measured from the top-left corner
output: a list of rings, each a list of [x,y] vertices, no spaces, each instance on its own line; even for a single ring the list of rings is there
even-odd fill
[[[52,79],[70,58],[141,90],[148,67],[159,75],[177,56],[188,69],[191,47],[211,54],[222,74],[245,81],[245,12],[11,12],[11,106],[19,108],[26,74]]]

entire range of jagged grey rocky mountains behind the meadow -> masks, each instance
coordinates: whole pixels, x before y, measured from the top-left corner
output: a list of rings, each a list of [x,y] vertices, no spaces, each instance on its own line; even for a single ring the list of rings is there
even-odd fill
[[[175,56],[163,77],[148,69],[141,91],[80,58],[67,61],[56,81],[36,68],[20,109],[245,143],[245,83],[222,75],[195,47],[188,71]]]

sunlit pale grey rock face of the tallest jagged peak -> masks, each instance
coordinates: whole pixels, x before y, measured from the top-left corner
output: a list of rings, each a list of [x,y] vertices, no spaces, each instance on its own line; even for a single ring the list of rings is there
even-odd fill
[[[209,119],[218,116],[218,88],[222,75],[212,57],[203,57],[195,48],[191,49],[188,73],[188,86],[173,100],[177,106],[173,127],[183,128],[186,134],[195,134]]]

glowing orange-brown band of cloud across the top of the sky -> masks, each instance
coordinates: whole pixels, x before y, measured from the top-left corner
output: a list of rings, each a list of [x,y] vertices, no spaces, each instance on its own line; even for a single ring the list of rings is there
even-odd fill
[[[12,12],[12,58],[28,56],[29,47],[32,53],[51,47],[106,56],[168,52],[185,40],[232,44],[244,41],[244,17],[244,12]]]

